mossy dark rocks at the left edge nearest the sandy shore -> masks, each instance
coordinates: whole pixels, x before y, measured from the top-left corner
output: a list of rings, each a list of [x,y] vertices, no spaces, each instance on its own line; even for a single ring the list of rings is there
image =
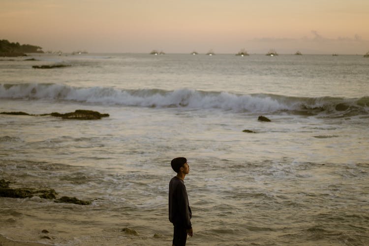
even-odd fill
[[[0,197],[10,198],[31,198],[38,196],[44,199],[56,199],[57,192],[54,189],[31,189],[31,188],[10,188],[10,182],[0,180]],[[75,197],[62,196],[55,202],[74,203],[78,205],[90,205],[90,201],[79,200]]]

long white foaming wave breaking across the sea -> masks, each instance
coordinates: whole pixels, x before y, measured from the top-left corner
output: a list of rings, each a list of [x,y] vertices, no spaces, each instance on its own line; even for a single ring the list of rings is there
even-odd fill
[[[30,83],[0,84],[0,98],[141,107],[221,109],[240,113],[287,112],[299,115],[328,114],[338,117],[369,114],[369,96],[361,98],[293,97],[275,94],[204,92],[191,89],[120,90],[111,87],[77,88],[57,84]]]

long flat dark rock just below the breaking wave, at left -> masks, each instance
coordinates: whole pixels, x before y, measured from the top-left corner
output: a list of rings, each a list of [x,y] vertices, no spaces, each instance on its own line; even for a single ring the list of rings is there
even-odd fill
[[[22,111],[19,112],[1,112],[0,114],[3,115],[28,115],[28,116],[54,116],[54,117],[61,117],[62,119],[66,120],[99,120],[103,117],[109,117],[109,114],[101,114],[97,111],[92,110],[81,110],[78,109],[74,112],[61,114],[61,113],[51,113],[51,114],[41,114],[41,115],[31,115]]]

